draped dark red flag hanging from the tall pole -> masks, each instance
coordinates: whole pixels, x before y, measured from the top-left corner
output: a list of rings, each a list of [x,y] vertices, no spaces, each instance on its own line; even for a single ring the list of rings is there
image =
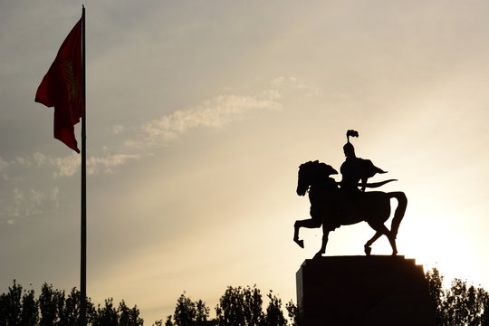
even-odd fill
[[[85,112],[82,90],[82,19],[68,34],[35,93],[35,101],[54,107],[54,138],[76,150],[74,125]]]

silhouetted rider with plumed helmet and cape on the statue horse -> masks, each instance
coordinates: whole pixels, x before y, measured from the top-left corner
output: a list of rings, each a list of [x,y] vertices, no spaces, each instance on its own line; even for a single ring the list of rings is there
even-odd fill
[[[347,194],[347,197],[358,197],[361,192],[365,192],[367,187],[367,179],[375,176],[377,173],[386,173],[381,168],[377,168],[369,159],[357,158],[355,148],[350,143],[351,137],[359,137],[359,133],[355,130],[347,131],[347,143],[343,146],[345,153],[345,161],[341,164],[341,181],[340,187]],[[361,180],[361,191],[359,182]]]

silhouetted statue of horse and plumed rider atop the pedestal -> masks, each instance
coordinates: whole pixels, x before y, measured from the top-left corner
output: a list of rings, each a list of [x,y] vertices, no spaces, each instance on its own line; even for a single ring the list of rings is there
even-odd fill
[[[374,166],[369,159],[357,158],[350,137],[359,137],[359,133],[355,130],[347,131],[347,143],[343,146],[346,159],[340,167],[340,182],[330,177],[338,174],[334,168],[317,160],[303,163],[299,167],[297,195],[304,196],[309,193],[311,218],[295,222],[293,241],[303,248],[304,242],[299,238],[301,227],[322,226],[321,249],[314,255],[314,258],[319,258],[326,252],[328,235],[331,231],[340,225],[353,225],[365,221],[376,232],[364,245],[365,254],[370,255],[371,245],[380,236],[386,235],[392,247],[392,255],[396,255],[398,254],[396,236],[406,212],[408,198],[400,191],[388,193],[365,191],[366,188],[381,187],[396,180],[368,183],[369,177],[387,172]],[[385,222],[390,216],[390,198],[396,198],[398,206],[389,230]]]

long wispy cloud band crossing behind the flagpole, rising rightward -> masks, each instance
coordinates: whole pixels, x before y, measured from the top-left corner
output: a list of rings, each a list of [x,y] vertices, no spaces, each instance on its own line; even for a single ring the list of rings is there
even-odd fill
[[[120,135],[130,131],[132,136],[122,140],[123,147],[120,153],[104,153],[101,156],[87,158],[87,172],[89,175],[113,173],[113,168],[149,155],[145,150],[165,145],[191,129],[221,129],[235,120],[244,119],[251,111],[281,110],[283,96],[294,95],[297,91],[305,91],[306,95],[311,95],[319,89],[295,77],[281,76],[269,82],[267,89],[259,95],[218,95],[202,101],[195,107],[176,110],[139,127],[115,125],[111,130],[114,134]],[[105,147],[101,148],[101,152],[106,150]],[[15,157],[12,161],[0,158],[0,177],[11,179],[6,173],[9,168],[32,165],[38,168],[54,168],[53,177],[72,177],[81,167],[81,157],[74,152],[63,158],[53,158],[35,152],[31,157]]]

